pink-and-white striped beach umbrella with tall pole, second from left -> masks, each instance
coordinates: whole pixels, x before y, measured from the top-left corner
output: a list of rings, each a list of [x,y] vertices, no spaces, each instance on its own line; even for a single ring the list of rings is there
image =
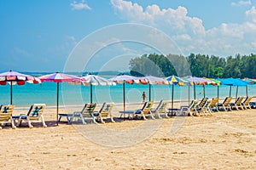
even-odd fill
[[[58,125],[58,115],[59,115],[59,84],[60,82],[81,82],[82,79],[80,77],[76,77],[73,75],[63,74],[60,72],[55,72],[49,75],[44,75],[42,77],[38,77],[42,82],[56,82],[56,105],[57,105],[57,111],[56,111],[56,121]]]

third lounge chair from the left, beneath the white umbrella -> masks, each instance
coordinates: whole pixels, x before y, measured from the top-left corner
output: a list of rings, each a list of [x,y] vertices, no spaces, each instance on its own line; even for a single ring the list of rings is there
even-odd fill
[[[97,123],[93,111],[96,108],[96,104],[85,104],[82,111],[74,111],[73,116],[71,118],[71,123],[73,122],[73,118],[79,118],[83,124],[86,124],[85,120],[91,120],[91,122]]]

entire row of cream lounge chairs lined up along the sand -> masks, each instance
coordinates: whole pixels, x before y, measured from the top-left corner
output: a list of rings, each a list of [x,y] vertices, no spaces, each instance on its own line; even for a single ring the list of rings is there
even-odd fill
[[[154,102],[145,102],[143,107],[135,111],[119,111],[120,117],[128,115],[129,119],[143,118],[147,117],[152,119],[155,118],[169,118],[170,113],[173,112],[174,115],[179,116],[207,116],[212,115],[213,111],[232,111],[245,110],[256,108],[256,102],[251,102],[253,97],[239,97],[234,103],[231,103],[232,98],[227,97],[222,103],[218,103],[218,98],[208,99],[203,98],[201,101],[192,100],[190,105],[182,105],[178,109],[167,109],[168,102],[160,100],[159,105],[153,108]],[[73,121],[82,122],[86,124],[86,121],[90,122],[101,122],[105,123],[103,119],[110,118],[111,122],[114,122],[113,115],[111,113],[113,109],[113,103],[104,103],[99,111],[95,111],[96,104],[85,104],[81,111],[74,111],[72,114],[59,114],[59,122],[61,122],[62,117],[66,117],[69,124]],[[21,122],[27,122],[28,127],[33,127],[32,122],[42,122],[43,127],[47,127],[44,122],[43,112],[45,109],[44,104],[34,104],[31,105],[27,114],[20,114],[20,116],[12,116],[15,109],[15,105],[1,105],[0,106],[0,125],[9,123],[12,128],[20,126]],[[16,126],[15,126],[16,122]],[[0,126],[0,129],[2,127]]]

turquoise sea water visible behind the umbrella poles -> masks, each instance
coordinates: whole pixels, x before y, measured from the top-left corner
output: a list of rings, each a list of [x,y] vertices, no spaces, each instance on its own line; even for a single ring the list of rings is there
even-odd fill
[[[0,104],[9,104],[9,85],[0,86]],[[246,96],[246,88],[238,88],[238,96]],[[142,102],[143,91],[146,92],[148,100],[148,85],[125,84],[125,100],[127,103]],[[190,96],[189,92],[190,91]],[[236,87],[231,87],[231,96],[236,97]],[[230,95],[230,86],[219,87],[219,97],[224,98]],[[248,86],[248,95],[256,96],[256,86]],[[217,97],[217,87],[206,86],[206,97]],[[194,88],[188,86],[174,86],[174,99],[194,99]],[[196,99],[203,98],[202,86],[196,86]],[[151,100],[172,99],[172,85],[152,85]],[[90,86],[71,85],[67,82],[60,83],[60,105],[83,105],[90,102]],[[123,102],[123,85],[116,86],[95,86],[93,87],[93,102]],[[42,84],[29,84],[13,86],[13,104],[17,106],[32,105],[34,103],[45,103],[56,105],[56,83],[43,82]]]

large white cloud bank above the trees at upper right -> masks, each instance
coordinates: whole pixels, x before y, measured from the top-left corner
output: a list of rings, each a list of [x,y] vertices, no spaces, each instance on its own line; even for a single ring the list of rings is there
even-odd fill
[[[201,53],[221,56],[251,54],[255,52],[256,8],[245,12],[241,24],[222,23],[206,30],[200,18],[190,17],[187,8],[160,8],[149,5],[143,8],[137,3],[124,0],[111,0],[113,8],[128,22],[154,26],[171,37],[183,54]],[[251,1],[238,2],[249,4]],[[237,4],[238,4],[237,3]]]

